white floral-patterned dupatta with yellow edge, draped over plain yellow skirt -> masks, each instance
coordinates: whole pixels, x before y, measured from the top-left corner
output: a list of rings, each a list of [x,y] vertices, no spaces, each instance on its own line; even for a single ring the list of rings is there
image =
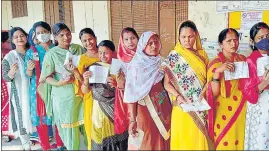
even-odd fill
[[[179,42],[165,60],[164,70],[171,83],[186,100],[199,101],[200,93],[206,84],[208,57],[202,50],[199,33],[196,33],[196,53],[184,48]],[[175,96],[172,96],[175,100]],[[206,111],[188,112],[197,127],[207,137]],[[208,141],[209,137],[207,137]]]

